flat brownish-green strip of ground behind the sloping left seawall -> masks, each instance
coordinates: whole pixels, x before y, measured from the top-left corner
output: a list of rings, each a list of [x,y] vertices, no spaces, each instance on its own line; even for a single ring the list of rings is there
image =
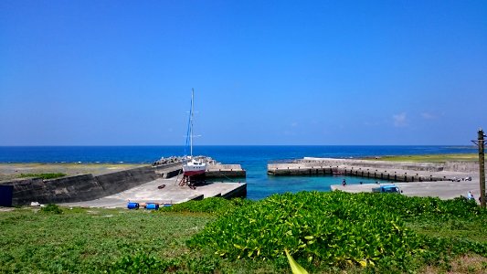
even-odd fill
[[[132,163],[0,163],[0,181],[16,179],[20,174],[108,174],[146,164]]]

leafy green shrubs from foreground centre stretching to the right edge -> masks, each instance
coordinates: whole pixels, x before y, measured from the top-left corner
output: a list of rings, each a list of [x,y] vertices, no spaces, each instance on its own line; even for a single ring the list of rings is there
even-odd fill
[[[418,262],[439,263],[450,254],[487,256],[485,242],[418,236],[405,223],[411,218],[461,216],[484,219],[487,212],[461,199],[341,192],[272,195],[218,218],[188,244],[230,259],[272,260],[282,257],[287,248],[308,266],[405,271]]]

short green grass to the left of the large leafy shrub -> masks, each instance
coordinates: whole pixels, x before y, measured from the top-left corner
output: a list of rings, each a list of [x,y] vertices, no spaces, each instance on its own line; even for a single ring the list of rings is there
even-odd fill
[[[205,227],[204,214],[75,208],[48,214],[30,208],[0,213],[0,272],[92,273],[123,256],[189,258],[185,240]]]

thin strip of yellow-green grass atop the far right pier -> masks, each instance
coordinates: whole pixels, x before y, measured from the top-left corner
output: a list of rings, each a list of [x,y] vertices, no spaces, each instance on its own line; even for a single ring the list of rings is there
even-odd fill
[[[479,161],[478,153],[459,153],[459,154],[430,154],[430,155],[397,155],[397,156],[382,156],[379,161],[391,162],[425,162],[425,163],[445,163],[449,161]]]

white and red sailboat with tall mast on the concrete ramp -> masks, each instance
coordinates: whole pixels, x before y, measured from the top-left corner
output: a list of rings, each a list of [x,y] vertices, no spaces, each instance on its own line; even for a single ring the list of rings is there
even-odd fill
[[[191,110],[189,111],[189,122],[187,125],[186,145],[189,145],[190,155],[183,162],[183,174],[185,176],[194,176],[205,174],[206,163],[202,159],[193,156],[193,108],[195,106],[195,89],[191,92]]]

